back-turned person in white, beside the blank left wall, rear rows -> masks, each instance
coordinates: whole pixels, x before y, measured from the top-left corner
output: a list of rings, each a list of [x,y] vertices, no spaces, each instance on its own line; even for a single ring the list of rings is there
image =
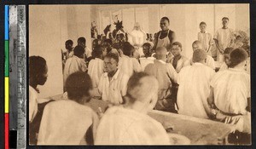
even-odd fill
[[[86,72],[87,66],[84,61],[84,48],[81,46],[76,46],[73,50],[73,57],[66,61],[64,68],[64,84],[66,83],[67,77],[73,72]],[[65,87],[65,85],[64,85]]]

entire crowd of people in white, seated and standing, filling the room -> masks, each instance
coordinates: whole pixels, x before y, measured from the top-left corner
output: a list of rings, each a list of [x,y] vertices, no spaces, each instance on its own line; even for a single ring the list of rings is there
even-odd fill
[[[170,20],[160,20],[154,42],[143,43],[143,54],[125,38],[95,39],[92,49],[84,37],[67,40],[63,54],[67,100],[38,102],[48,67],[44,58],[29,58],[30,142],[38,145],[170,145],[162,124],[147,115],[155,109],[236,124],[239,133],[251,133],[250,73],[247,50],[230,48],[229,19],[212,35],[201,22],[193,55],[182,55]],[[211,56],[213,40],[217,59]],[[86,106],[91,98],[108,102],[96,114]],[[50,103],[49,103],[50,102]],[[46,105],[46,106],[45,106]]]

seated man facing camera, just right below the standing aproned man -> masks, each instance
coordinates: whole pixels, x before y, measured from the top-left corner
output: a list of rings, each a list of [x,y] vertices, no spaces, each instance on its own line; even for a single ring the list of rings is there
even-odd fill
[[[174,67],[177,73],[180,72],[180,70],[184,66],[190,65],[189,59],[181,54],[182,50],[183,50],[183,47],[181,43],[179,42],[172,43],[171,52],[173,54],[173,57],[170,61],[167,61],[172,64],[172,66]]]

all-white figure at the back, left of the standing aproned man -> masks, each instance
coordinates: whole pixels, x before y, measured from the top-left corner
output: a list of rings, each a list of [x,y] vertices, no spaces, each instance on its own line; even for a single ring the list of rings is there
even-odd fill
[[[143,43],[146,41],[146,33],[143,32],[139,23],[135,23],[133,30],[129,34],[128,42],[138,50],[140,56],[143,55]]]

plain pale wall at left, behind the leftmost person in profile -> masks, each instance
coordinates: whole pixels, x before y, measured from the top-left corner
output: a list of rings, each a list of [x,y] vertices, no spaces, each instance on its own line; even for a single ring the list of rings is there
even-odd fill
[[[48,80],[39,86],[39,97],[59,95],[63,92],[61,49],[65,41],[78,37],[90,42],[89,5],[30,5],[29,6],[29,55],[40,55],[47,61]]]

